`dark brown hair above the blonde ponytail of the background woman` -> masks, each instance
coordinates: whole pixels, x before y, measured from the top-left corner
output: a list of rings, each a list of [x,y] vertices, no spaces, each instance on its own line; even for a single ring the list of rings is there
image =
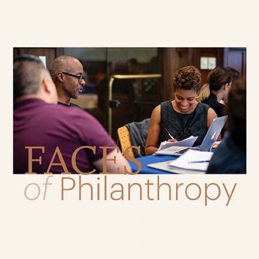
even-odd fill
[[[210,91],[219,91],[224,84],[232,81],[232,74],[224,67],[217,67],[210,71],[207,81],[210,85]]]

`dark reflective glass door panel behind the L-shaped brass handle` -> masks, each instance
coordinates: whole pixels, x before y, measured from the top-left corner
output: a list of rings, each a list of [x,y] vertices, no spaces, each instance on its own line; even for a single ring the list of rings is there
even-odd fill
[[[114,74],[161,74],[159,48],[64,48],[65,55],[80,60],[87,78],[83,92],[71,100],[91,112],[105,128],[109,80]],[[114,79],[112,98],[120,102],[113,109],[113,130],[123,124],[150,116],[153,107],[161,100],[161,80],[158,78]],[[112,136],[115,139],[115,135]]]

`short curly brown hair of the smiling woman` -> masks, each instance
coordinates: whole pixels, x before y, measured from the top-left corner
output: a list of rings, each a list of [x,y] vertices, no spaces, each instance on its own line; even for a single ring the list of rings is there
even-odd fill
[[[194,66],[180,68],[175,73],[174,91],[178,89],[198,91],[201,85],[201,73]]]

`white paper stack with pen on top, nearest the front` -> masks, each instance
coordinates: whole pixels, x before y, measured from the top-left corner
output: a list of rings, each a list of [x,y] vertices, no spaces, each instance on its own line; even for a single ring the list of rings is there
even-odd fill
[[[180,157],[170,162],[170,166],[183,168],[183,169],[192,169],[192,170],[201,170],[206,171],[209,165],[209,162],[197,162],[197,161],[208,161],[211,160],[213,152],[204,152],[198,150],[187,150]],[[196,162],[196,163],[193,163]]]

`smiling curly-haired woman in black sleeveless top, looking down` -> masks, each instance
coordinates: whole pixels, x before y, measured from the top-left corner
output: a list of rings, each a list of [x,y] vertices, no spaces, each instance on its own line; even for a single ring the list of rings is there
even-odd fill
[[[146,155],[156,152],[163,141],[181,141],[193,135],[198,136],[194,146],[202,143],[217,114],[208,105],[196,101],[200,84],[201,74],[194,66],[186,66],[176,72],[174,100],[162,102],[152,111]]]

